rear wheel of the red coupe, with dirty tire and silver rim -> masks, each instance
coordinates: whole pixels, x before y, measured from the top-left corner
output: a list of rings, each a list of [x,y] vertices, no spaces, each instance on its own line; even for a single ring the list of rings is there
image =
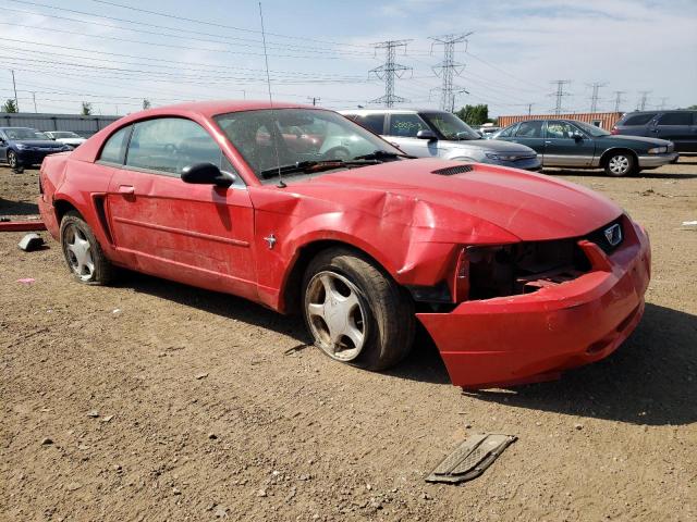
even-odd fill
[[[66,212],[61,220],[61,247],[68,269],[78,282],[106,285],[113,278],[113,265],[89,225],[75,211]]]

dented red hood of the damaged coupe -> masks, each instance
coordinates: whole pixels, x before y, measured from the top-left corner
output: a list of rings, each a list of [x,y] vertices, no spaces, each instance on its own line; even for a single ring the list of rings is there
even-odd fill
[[[469,172],[458,174],[435,172],[468,166]],[[412,226],[438,229],[431,238],[444,241],[451,237],[456,238],[453,241],[494,237],[491,231],[496,229],[505,231],[503,236],[515,236],[510,240],[582,237],[622,213],[612,201],[587,188],[482,163],[407,160],[289,181],[289,189],[331,199],[334,207],[358,208],[379,213],[380,219],[399,216]],[[386,213],[386,208],[391,210]],[[477,227],[488,232],[477,234]]]

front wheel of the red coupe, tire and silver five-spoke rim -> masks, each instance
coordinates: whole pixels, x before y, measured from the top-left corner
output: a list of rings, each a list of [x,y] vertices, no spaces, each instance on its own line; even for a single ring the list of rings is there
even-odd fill
[[[412,348],[412,299],[367,256],[348,248],[319,252],[305,271],[302,299],[315,346],[334,360],[379,371]]]

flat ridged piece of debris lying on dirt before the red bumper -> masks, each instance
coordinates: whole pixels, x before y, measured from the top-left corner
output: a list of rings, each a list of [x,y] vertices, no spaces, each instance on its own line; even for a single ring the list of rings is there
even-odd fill
[[[496,433],[474,435],[445,457],[426,477],[426,482],[458,484],[472,481],[484,473],[515,440],[517,440],[515,435]]]

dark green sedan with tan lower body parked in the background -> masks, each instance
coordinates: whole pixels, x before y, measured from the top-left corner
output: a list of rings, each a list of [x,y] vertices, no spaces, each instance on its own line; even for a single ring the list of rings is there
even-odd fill
[[[609,176],[656,169],[677,158],[671,141],[615,136],[574,120],[526,120],[509,125],[494,138],[530,147],[542,166],[602,167]]]

